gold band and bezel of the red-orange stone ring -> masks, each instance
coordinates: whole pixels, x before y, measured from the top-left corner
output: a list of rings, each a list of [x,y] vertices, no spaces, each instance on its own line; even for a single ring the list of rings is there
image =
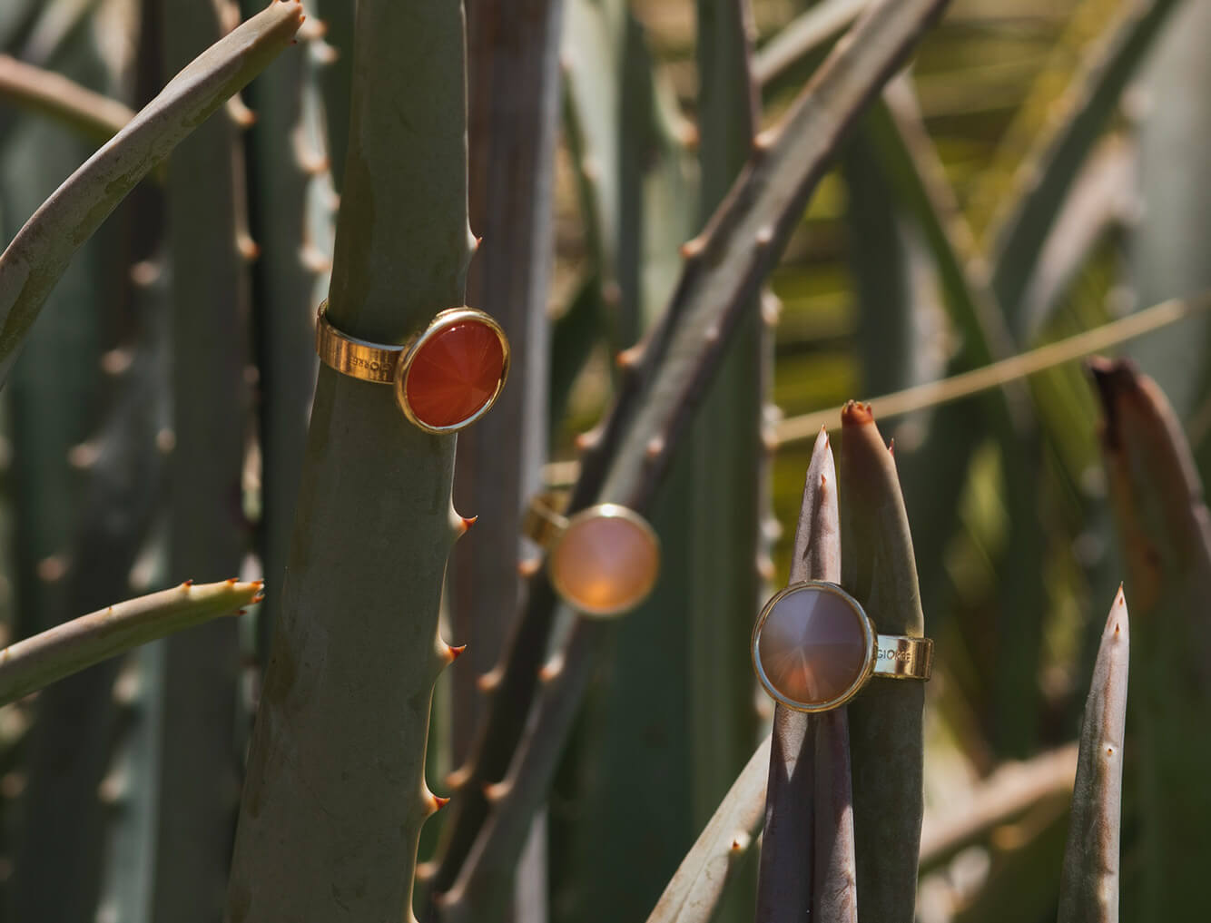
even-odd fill
[[[503,355],[500,380],[497,383],[497,390],[493,395],[474,414],[449,426],[432,426],[419,419],[408,402],[408,372],[412,367],[412,360],[438,333],[455,323],[467,321],[482,323],[497,334]],[[325,299],[316,313],[315,351],[321,362],[342,374],[362,382],[392,385],[396,403],[400,405],[404,417],[427,432],[452,432],[475,423],[497,402],[505,386],[505,379],[509,378],[510,349],[505,331],[492,315],[465,305],[438,311],[424,331],[406,343],[392,346],[357,339],[357,337],[350,337],[337,329],[328,320],[328,302]]]

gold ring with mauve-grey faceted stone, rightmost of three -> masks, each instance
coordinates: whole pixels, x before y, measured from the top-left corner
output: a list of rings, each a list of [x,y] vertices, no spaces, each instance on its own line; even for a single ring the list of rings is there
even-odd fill
[[[878,635],[857,600],[837,584],[804,580],[765,603],[753,627],[752,658],[775,701],[794,711],[828,711],[872,676],[929,680],[934,642]]]

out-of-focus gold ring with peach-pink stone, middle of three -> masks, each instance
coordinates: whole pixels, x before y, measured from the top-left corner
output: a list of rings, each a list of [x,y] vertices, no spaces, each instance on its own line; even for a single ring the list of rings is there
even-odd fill
[[[567,517],[558,512],[555,494],[539,494],[530,501],[522,531],[546,549],[546,572],[555,591],[585,615],[633,609],[660,575],[660,539],[645,518],[616,503]]]

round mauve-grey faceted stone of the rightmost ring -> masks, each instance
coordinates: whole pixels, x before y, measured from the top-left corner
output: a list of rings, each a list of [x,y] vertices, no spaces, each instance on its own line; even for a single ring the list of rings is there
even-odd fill
[[[774,603],[757,638],[765,678],[804,707],[840,698],[866,666],[862,625],[843,596],[817,586],[788,592]]]

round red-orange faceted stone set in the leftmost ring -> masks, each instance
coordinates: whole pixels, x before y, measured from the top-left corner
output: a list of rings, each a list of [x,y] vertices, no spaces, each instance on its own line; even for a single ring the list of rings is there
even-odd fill
[[[463,321],[438,331],[408,367],[408,406],[427,426],[454,426],[492,400],[505,351],[487,323]]]

